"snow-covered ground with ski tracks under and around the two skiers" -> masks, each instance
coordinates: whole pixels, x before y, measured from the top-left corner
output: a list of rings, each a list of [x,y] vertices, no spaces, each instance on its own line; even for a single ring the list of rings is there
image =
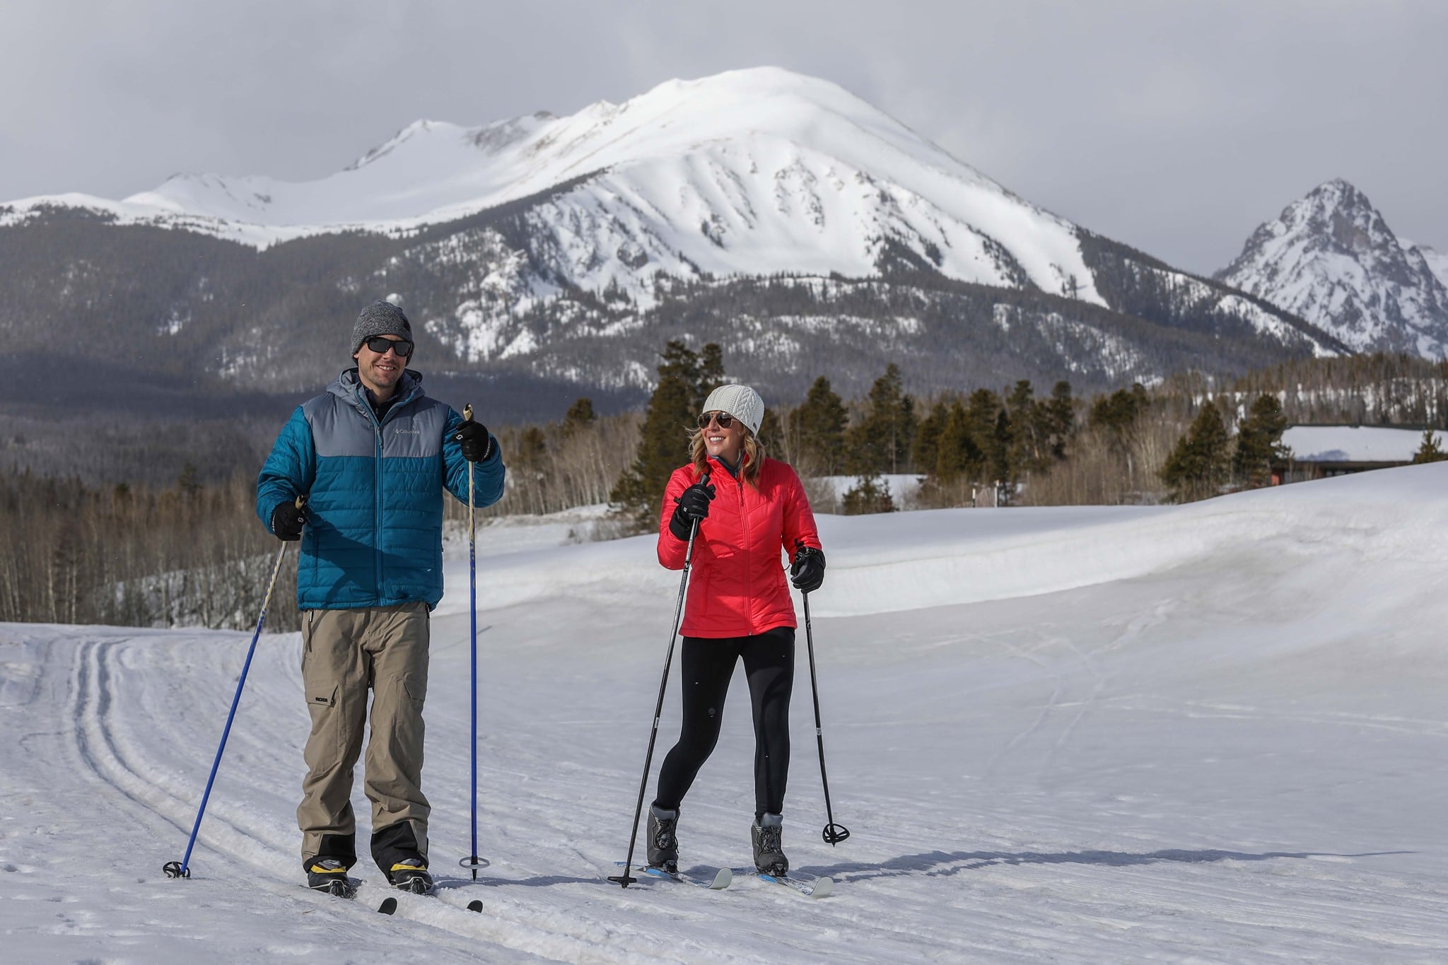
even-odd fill
[[[1442,961],[1448,464],[1183,508],[822,518],[785,823],[805,901],[604,884],[678,589],[652,540],[479,560],[481,849],[468,854],[466,545],[433,622],[436,898],[297,887],[298,638],[258,647],[193,856],[168,881],[248,634],[0,626],[0,930],[14,961]],[[484,531],[487,543],[491,532]],[[802,642],[802,641],[801,641]],[[747,699],[683,807],[743,865]],[[660,751],[678,728],[670,681]],[[656,757],[657,762],[657,757]],[[361,794],[356,796],[361,802]],[[365,807],[363,807],[365,812]],[[482,914],[463,909],[471,900]]]

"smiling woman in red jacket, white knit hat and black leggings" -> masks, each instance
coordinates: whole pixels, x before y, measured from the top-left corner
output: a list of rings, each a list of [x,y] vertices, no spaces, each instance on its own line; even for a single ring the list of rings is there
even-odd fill
[[[792,582],[809,593],[824,582],[824,551],[799,476],[765,457],[757,438],[763,418],[765,401],[747,385],[714,389],[691,438],[692,462],[673,472],[663,496],[659,563],[683,569],[698,525],[681,628],[683,728],[663,760],[649,809],[649,864],[668,871],[679,864],[679,804],[718,741],[740,658],[754,709],[754,867],[763,874],[789,871],[780,815],[796,624],[779,553],[794,556]]]

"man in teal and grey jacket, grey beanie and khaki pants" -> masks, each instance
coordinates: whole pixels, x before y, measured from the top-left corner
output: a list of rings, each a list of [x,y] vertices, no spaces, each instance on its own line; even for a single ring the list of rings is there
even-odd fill
[[[352,768],[372,690],[365,787],[372,858],[392,885],[432,890],[423,796],[427,619],[443,595],[443,489],[473,503],[502,495],[498,441],[423,394],[405,367],[413,327],[376,301],[352,328],[348,369],[300,405],[256,480],[256,515],[281,540],[301,540],[297,606],[311,736],[301,784],[307,884],[350,896],[356,864]],[[297,508],[297,498],[306,499]]]

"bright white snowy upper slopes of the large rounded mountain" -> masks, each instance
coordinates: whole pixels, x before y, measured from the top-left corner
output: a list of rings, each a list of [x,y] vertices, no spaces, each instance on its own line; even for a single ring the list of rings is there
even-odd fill
[[[407,231],[550,191],[531,227],[550,236],[550,272],[589,291],[647,301],[657,273],[867,276],[899,245],[950,278],[1053,294],[1074,278],[1103,304],[1074,226],[835,84],[778,68],[668,81],[569,117],[420,120],[319,181],[177,175],[123,201],[23,198],[0,224],[85,207],[265,246]]]

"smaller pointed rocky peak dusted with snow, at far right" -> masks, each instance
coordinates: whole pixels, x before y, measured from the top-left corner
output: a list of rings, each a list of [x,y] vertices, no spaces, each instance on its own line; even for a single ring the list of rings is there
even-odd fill
[[[1444,276],[1448,258],[1397,239],[1367,195],[1341,178],[1258,227],[1216,273],[1355,350],[1429,357],[1448,353]]]

